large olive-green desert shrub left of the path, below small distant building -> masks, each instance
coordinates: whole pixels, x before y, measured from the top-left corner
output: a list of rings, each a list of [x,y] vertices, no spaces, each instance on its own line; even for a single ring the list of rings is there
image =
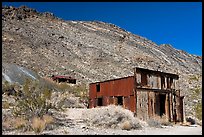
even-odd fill
[[[15,117],[31,119],[34,116],[42,117],[51,108],[51,91],[46,87],[41,87],[38,81],[26,80],[22,96],[16,100],[13,107]]]

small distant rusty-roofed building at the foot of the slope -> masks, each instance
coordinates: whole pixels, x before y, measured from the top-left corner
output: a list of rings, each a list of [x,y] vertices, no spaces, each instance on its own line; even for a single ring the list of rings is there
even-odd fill
[[[52,75],[52,80],[58,83],[60,82],[67,82],[71,84],[76,84],[76,79],[72,78],[71,76],[61,76],[61,75]]]

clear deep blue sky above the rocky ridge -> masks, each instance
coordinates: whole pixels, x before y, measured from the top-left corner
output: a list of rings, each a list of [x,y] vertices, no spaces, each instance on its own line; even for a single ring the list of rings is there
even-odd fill
[[[3,2],[52,12],[63,20],[115,24],[156,44],[202,55],[202,2]]]

